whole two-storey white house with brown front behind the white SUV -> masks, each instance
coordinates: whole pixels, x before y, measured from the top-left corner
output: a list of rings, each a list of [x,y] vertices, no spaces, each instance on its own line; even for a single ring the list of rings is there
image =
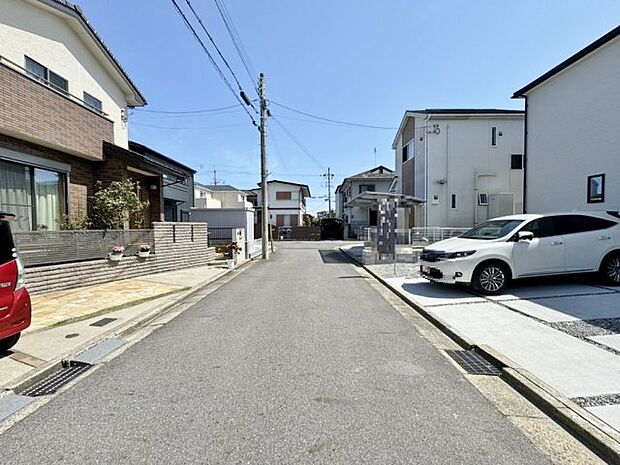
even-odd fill
[[[524,112],[405,112],[392,148],[397,192],[420,199],[398,226],[470,227],[523,210]]]

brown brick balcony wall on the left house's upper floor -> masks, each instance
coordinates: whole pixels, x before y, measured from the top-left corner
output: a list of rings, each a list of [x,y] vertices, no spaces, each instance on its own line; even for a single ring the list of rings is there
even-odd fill
[[[101,160],[114,123],[0,64],[0,133]]]

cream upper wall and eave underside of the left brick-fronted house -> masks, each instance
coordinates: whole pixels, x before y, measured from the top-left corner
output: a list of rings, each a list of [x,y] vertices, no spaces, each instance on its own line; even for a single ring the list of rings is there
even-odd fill
[[[28,0],[0,0],[0,55],[25,67],[25,55],[69,81],[69,93],[83,99],[86,91],[101,100],[114,122],[114,143],[127,148],[127,124],[121,110],[122,88],[86,46],[75,23],[49,7]],[[90,39],[84,39],[90,40]]]

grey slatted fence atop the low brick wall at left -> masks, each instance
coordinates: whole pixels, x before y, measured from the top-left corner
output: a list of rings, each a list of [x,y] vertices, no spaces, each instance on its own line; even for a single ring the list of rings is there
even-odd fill
[[[15,244],[28,266],[106,258],[115,245],[135,255],[142,244],[155,252],[152,229],[16,232]]]

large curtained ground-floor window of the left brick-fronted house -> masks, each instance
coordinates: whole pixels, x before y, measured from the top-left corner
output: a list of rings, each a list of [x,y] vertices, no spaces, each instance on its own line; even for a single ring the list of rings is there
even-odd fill
[[[65,175],[0,161],[0,210],[14,213],[16,231],[56,231],[66,211]]]

